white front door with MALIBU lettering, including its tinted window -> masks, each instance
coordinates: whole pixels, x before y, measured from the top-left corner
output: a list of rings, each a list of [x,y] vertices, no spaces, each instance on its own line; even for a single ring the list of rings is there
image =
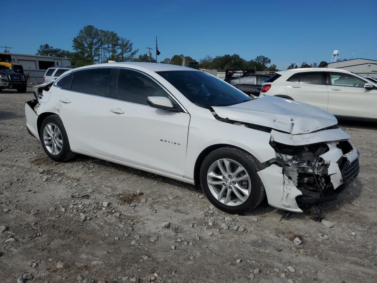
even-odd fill
[[[110,99],[104,136],[111,158],[183,177],[190,115],[149,76],[118,69],[116,99]],[[147,97],[169,97],[175,111],[147,105]]]

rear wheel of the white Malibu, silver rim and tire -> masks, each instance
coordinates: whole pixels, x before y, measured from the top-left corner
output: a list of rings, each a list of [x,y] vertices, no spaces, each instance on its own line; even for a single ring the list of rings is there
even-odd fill
[[[70,150],[66,129],[58,115],[49,115],[43,120],[40,140],[44,152],[52,160],[68,161],[76,155]]]

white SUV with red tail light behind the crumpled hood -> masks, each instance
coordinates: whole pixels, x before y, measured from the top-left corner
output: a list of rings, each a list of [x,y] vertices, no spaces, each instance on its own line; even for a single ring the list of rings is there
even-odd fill
[[[341,69],[277,71],[263,83],[263,95],[308,103],[339,117],[377,118],[377,84]]]

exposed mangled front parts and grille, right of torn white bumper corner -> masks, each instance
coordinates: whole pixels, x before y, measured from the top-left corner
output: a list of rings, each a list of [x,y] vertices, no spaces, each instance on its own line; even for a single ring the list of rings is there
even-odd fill
[[[355,150],[352,158],[347,157],[354,150],[348,141],[303,146],[271,141],[271,146],[277,155],[269,162],[281,167],[282,174],[302,192],[302,197],[297,198],[302,203],[317,203],[325,196],[328,200],[359,173],[359,153]]]

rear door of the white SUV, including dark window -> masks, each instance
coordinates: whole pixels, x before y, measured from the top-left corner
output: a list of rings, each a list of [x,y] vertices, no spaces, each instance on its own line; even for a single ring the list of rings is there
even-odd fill
[[[327,111],[328,90],[325,72],[299,72],[285,82],[287,95]]]

